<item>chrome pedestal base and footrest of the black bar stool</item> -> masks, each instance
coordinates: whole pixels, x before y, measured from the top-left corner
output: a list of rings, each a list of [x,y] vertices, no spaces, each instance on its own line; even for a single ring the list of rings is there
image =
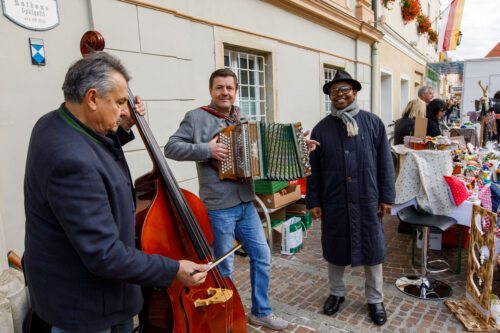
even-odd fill
[[[422,227],[422,268],[420,276],[405,276],[397,279],[396,287],[408,296],[416,297],[424,300],[440,300],[450,297],[452,294],[451,287],[439,280],[432,280],[427,278],[429,273],[441,273],[449,269],[448,263],[444,260],[434,260],[428,262],[427,251],[429,249],[429,227]],[[446,268],[439,270],[429,270],[427,265],[429,263],[443,262]]]

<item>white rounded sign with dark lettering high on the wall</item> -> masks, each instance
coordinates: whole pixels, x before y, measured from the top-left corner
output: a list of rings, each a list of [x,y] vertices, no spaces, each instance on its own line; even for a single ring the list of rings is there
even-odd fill
[[[50,30],[59,24],[57,0],[2,0],[3,15],[30,30]]]

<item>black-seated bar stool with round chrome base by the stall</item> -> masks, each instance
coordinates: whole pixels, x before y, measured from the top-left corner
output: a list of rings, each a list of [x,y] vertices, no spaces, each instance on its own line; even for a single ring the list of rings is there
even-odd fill
[[[397,215],[402,222],[411,224],[414,227],[421,227],[423,239],[421,256],[422,270],[420,276],[401,277],[396,280],[396,287],[403,293],[420,299],[438,300],[450,297],[452,289],[448,284],[440,280],[433,280],[427,277],[428,274],[442,273],[450,268],[450,265],[441,259],[428,261],[429,258],[427,256],[427,251],[429,250],[429,228],[434,227],[443,232],[456,224],[457,220],[445,215],[434,215],[420,212],[413,206],[401,209]],[[431,270],[428,268],[428,265],[433,263],[442,263],[445,268]]]

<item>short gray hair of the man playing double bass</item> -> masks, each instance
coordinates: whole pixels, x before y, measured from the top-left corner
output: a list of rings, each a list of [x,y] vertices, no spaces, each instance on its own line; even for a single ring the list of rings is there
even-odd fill
[[[95,88],[102,96],[113,90],[113,73],[118,72],[128,82],[130,75],[118,58],[106,52],[95,52],[75,62],[68,69],[62,90],[64,100],[81,103],[89,89]]]

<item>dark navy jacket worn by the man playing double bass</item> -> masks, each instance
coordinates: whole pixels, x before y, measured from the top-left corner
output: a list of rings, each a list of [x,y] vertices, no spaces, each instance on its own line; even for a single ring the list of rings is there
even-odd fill
[[[135,203],[117,135],[65,108],[33,128],[24,182],[24,268],[33,310],[74,332],[137,314],[140,286],[166,287],[178,262],[135,248]]]

